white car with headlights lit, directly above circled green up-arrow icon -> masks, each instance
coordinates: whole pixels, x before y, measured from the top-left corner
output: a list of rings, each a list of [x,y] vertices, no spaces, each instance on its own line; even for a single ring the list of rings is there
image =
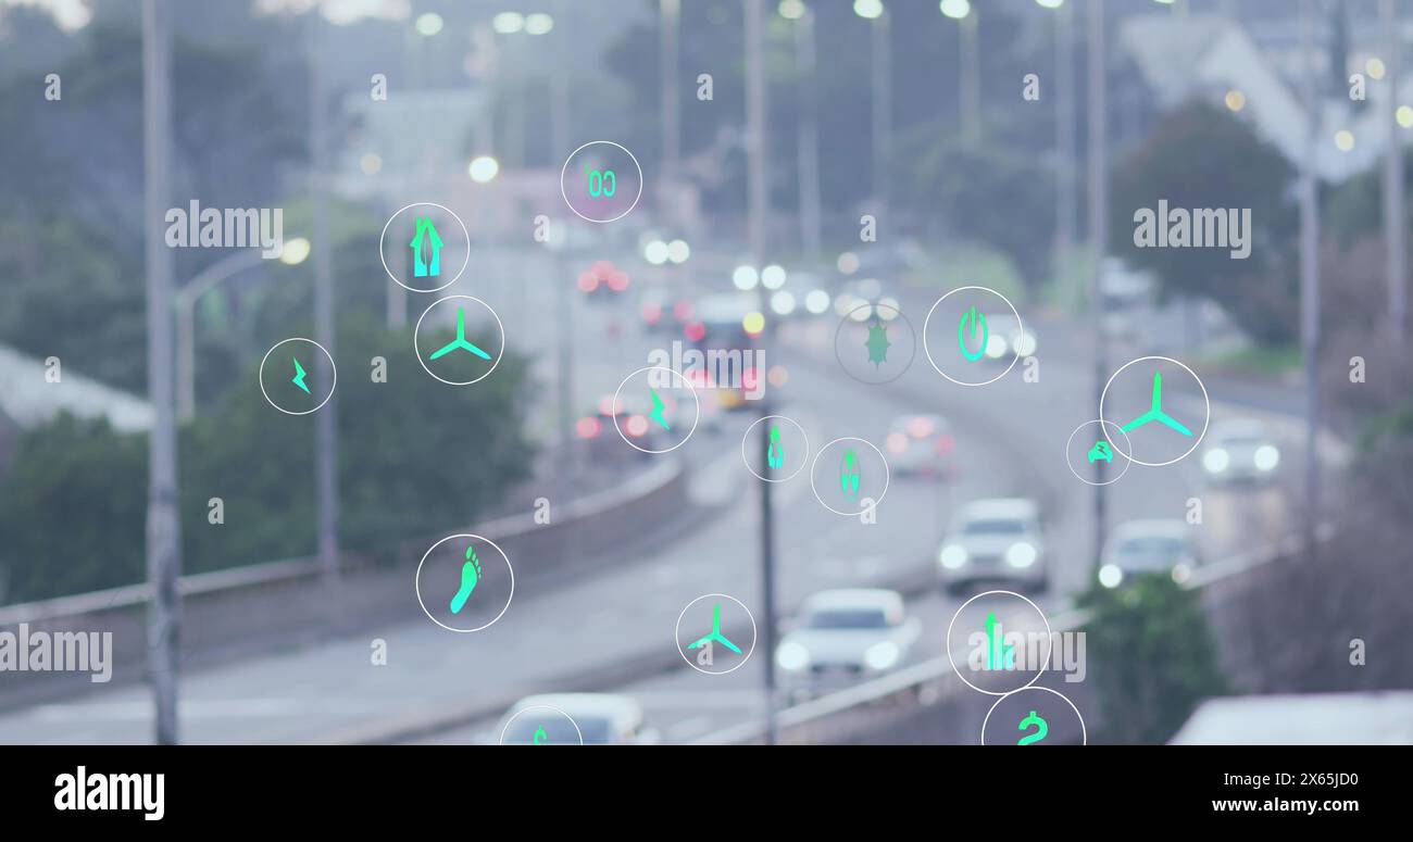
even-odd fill
[[[1046,544],[1040,507],[1034,500],[1020,497],[976,500],[962,506],[937,551],[937,572],[948,591],[991,579],[1044,589]]]

